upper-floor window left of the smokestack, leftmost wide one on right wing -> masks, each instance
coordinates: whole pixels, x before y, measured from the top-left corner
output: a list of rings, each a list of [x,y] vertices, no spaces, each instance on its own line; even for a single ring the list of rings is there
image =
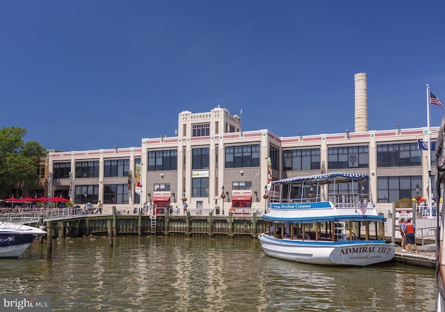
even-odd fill
[[[283,170],[319,170],[320,149],[291,149],[283,151]]]

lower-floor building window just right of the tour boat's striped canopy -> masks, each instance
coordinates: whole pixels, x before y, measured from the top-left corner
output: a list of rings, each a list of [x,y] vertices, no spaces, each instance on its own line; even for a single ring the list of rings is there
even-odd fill
[[[422,176],[379,176],[377,178],[377,202],[393,203],[402,198],[411,199],[416,195],[417,185],[422,189]]]

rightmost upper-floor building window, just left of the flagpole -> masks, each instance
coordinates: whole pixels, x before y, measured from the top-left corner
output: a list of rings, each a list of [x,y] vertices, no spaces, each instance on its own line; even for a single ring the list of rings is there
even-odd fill
[[[412,167],[420,165],[421,152],[417,143],[377,146],[377,167]]]

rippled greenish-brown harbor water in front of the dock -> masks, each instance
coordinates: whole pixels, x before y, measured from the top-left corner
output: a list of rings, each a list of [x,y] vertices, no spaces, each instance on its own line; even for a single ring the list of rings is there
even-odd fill
[[[51,311],[434,311],[435,271],[325,267],[265,256],[250,238],[37,240],[0,260],[3,295],[51,295]]]

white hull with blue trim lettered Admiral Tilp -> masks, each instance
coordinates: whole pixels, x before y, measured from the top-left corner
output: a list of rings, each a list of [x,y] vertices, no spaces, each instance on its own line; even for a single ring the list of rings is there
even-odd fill
[[[268,256],[321,265],[371,265],[390,261],[396,247],[382,240],[318,242],[259,235]]]

